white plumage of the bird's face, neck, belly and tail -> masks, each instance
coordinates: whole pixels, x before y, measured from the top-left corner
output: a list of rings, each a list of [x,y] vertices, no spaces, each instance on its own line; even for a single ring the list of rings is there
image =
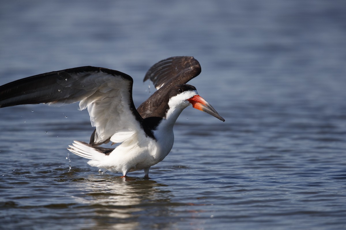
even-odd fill
[[[128,172],[144,169],[147,177],[149,168],[162,161],[171,151],[174,142],[174,123],[183,109],[190,105],[187,99],[195,95],[198,95],[195,90],[185,91],[170,98],[166,118],[162,119],[158,129],[154,131],[155,139],[145,136],[142,129],[124,132],[126,138],[119,138],[121,132],[115,132],[110,140],[115,142],[113,137],[119,138],[121,144],[108,155],[80,141],[74,141],[68,150],[80,157],[90,159],[88,164],[103,169],[103,172],[107,170],[122,172],[123,176],[126,176]],[[102,103],[99,102],[99,104]],[[119,111],[118,114],[120,117],[123,116]],[[130,126],[128,120],[124,123],[124,126],[126,125]]]

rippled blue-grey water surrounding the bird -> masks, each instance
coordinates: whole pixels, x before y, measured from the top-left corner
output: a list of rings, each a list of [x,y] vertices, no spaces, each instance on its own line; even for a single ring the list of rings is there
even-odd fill
[[[123,179],[68,157],[66,147],[93,131],[77,104],[2,108],[0,229],[346,227],[344,1],[7,1],[0,9],[0,84],[101,66],[134,78],[138,106],[153,63],[191,55],[202,66],[191,84],[226,119],[185,109],[151,178]]]

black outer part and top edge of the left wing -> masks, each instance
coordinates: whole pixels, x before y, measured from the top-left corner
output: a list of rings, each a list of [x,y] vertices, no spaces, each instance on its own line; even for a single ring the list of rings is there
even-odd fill
[[[0,86],[0,108],[39,103],[61,106],[81,101],[96,91],[96,84],[86,85],[81,80],[97,72],[121,75],[131,84],[133,82],[125,73],[92,66],[42,73]],[[77,77],[78,74],[81,76]]]

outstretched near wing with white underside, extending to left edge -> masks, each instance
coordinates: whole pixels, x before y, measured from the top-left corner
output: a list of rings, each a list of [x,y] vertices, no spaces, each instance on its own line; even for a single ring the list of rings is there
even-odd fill
[[[133,79],[125,73],[99,67],[78,67],[39,74],[0,86],[0,108],[46,103],[62,106],[80,101],[96,127],[92,144],[122,142],[143,129],[143,118],[132,99]]]

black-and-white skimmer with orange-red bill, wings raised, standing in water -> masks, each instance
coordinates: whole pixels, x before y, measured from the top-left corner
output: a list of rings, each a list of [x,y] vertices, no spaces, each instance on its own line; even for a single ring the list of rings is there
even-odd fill
[[[99,172],[122,173],[144,170],[162,161],[174,142],[173,126],[186,107],[209,113],[225,121],[194,86],[186,84],[201,72],[190,56],[161,60],[146,72],[157,89],[136,109],[132,98],[133,78],[126,73],[84,66],[19,79],[0,86],[0,108],[44,103],[63,106],[79,102],[87,109],[95,130],[89,143],[74,141],[70,152],[89,159]],[[117,143],[115,148],[101,144]]]

